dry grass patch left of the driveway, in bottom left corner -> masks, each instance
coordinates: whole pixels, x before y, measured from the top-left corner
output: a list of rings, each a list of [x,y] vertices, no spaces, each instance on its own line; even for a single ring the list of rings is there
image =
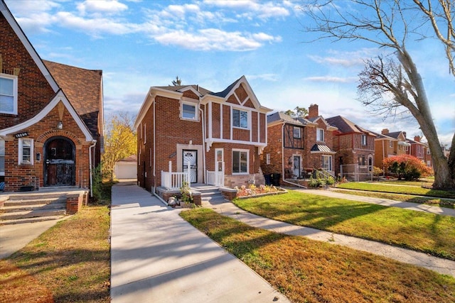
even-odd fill
[[[110,302],[109,221],[84,207],[0,260],[0,302]]]

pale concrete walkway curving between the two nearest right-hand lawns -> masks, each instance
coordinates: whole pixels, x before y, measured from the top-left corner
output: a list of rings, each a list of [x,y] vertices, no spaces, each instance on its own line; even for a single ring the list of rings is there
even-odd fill
[[[311,190],[308,189],[304,189],[304,191],[311,192]],[[315,194],[321,194],[321,192],[330,193],[328,191],[315,190]],[[331,194],[336,193],[332,192]],[[338,194],[338,197],[341,197],[341,195],[343,194]],[[359,198],[360,196],[353,197]],[[399,204],[395,204],[395,206],[398,205]],[[295,226],[292,224],[284,223],[282,221],[267,219],[262,216],[257,216],[255,214],[244,211],[231,202],[210,202],[203,203],[203,206],[209,207],[218,213],[223,214],[224,216],[230,216],[233,219],[242,221],[245,224],[257,228],[264,228],[268,229],[269,231],[285,233],[291,236],[305,236],[312,240],[324,241],[341,246],[348,246],[350,248],[363,250],[369,253],[374,253],[376,255],[382,255],[384,257],[395,259],[403,263],[421,266],[423,268],[428,268],[429,270],[434,270],[441,274],[452,275],[455,277],[455,261],[436,258],[432,255],[428,255],[427,253],[419,253],[414,250],[389,246],[387,244],[375,241],[364,240],[352,236],[344,236],[328,231],[321,231],[316,228]]]

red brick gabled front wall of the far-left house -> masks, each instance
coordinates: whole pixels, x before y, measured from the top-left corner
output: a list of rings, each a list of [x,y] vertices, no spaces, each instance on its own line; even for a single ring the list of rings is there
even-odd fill
[[[65,167],[65,172],[60,175],[65,175],[66,179],[58,185],[90,187],[89,155],[94,136],[7,9],[2,9],[0,13],[1,76],[6,79],[14,77],[17,83],[17,114],[0,114],[0,141],[5,146],[4,155],[0,157],[0,167],[4,164],[0,182],[5,182],[4,190],[55,185],[46,182],[50,180],[49,167],[53,165],[50,164],[49,150],[63,150],[70,158],[65,159],[68,165],[59,166]],[[68,77],[71,78],[71,75]],[[95,86],[102,93],[100,77],[98,74],[99,83]],[[98,96],[98,100],[102,101],[100,98]],[[102,102],[100,104],[102,106]],[[96,125],[96,119],[94,123]],[[27,147],[21,148],[20,143],[24,141]],[[28,143],[31,143],[30,147]],[[50,148],[50,143],[55,144],[55,149]],[[48,150],[46,147],[49,147]],[[25,158],[20,157],[21,153],[25,153]],[[55,155],[52,160],[57,158]]]

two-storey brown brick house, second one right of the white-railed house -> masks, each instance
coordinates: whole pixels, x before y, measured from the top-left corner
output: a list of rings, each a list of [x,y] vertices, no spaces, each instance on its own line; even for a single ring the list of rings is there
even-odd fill
[[[348,180],[370,180],[375,158],[375,134],[343,116],[326,121],[338,128],[333,132],[336,175]]]

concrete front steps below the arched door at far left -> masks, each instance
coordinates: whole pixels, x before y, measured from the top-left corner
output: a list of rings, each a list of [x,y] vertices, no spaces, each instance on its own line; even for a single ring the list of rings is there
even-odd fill
[[[0,225],[62,219],[67,214],[68,195],[78,192],[61,188],[1,194]]]

